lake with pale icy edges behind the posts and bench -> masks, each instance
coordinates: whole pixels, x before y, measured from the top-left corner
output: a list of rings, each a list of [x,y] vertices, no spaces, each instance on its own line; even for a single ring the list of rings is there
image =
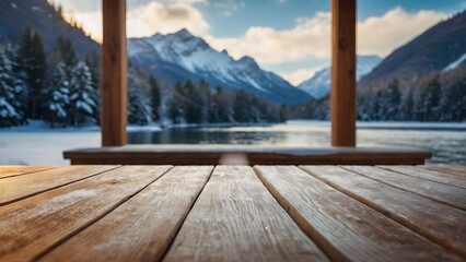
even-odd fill
[[[290,121],[263,127],[130,128],[130,144],[253,144],[257,146],[326,147],[328,122]],[[431,164],[466,165],[466,123],[361,123],[358,146],[413,147],[433,152]],[[0,130],[0,164],[67,165],[62,151],[100,146],[98,130]]]

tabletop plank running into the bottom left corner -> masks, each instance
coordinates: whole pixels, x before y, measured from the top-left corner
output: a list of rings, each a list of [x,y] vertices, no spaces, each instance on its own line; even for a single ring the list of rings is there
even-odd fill
[[[0,261],[36,259],[115,210],[168,169],[170,166],[121,167],[1,206]]]

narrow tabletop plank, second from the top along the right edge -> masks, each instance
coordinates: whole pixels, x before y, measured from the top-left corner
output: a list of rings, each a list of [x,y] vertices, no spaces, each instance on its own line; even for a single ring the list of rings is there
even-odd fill
[[[434,170],[427,170],[427,169],[413,167],[413,166],[381,166],[381,168],[396,171],[399,174],[405,174],[411,177],[422,178],[426,180],[441,182],[441,183],[466,189],[466,176],[461,177],[461,176],[434,171]]]

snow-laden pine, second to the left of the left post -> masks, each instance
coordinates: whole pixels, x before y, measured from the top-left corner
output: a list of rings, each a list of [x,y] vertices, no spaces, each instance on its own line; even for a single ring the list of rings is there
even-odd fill
[[[68,120],[69,81],[63,62],[55,67],[49,90],[46,94],[45,117],[54,128],[54,123],[63,123]]]

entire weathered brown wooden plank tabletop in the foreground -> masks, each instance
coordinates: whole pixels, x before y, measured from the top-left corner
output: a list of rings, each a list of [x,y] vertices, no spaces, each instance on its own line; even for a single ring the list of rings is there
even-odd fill
[[[0,167],[0,261],[465,261],[466,167]]]

